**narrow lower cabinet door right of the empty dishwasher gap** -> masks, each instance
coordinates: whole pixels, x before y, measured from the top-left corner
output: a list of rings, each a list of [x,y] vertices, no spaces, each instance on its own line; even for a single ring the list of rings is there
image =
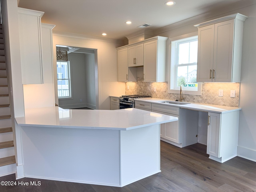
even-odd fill
[[[207,154],[220,157],[220,118],[221,114],[208,112]]]

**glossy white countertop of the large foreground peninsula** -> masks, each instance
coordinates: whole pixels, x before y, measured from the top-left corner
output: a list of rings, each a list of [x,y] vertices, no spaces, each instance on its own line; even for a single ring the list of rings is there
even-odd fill
[[[120,110],[81,110],[46,107],[27,109],[15,118],[18,126],[131,130],[172,122],[178,118],[135,108]]]

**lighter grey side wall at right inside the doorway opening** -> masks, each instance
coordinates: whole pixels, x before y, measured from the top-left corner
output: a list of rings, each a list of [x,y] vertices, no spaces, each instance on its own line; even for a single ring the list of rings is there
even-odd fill
[[[96,109],[95,54],[85,54],[86,106]]]

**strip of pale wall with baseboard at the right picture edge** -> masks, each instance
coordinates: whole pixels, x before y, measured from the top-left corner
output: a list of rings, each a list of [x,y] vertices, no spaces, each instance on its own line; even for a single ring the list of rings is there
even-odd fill
[[[256,4],[248,7],[244,22],[238,156],[256,161]]]

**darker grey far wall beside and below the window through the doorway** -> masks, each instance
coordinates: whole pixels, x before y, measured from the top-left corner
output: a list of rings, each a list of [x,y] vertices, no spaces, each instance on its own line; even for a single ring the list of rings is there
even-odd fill
[[[86,69],[84,54],[70,53],[71,96],[59,99],[59,106],[64,109],[86,107]],[[80,102],[82,99],[82,102]]]

